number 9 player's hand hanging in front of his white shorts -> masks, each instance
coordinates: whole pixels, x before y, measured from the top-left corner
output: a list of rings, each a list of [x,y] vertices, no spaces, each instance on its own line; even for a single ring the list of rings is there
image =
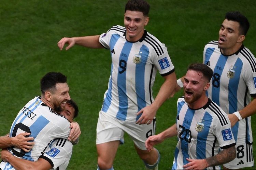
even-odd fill
[[[141,115],[136,124],[150,124],[156,116],[156,110],[152,105],[142,108],[136,115]]]

